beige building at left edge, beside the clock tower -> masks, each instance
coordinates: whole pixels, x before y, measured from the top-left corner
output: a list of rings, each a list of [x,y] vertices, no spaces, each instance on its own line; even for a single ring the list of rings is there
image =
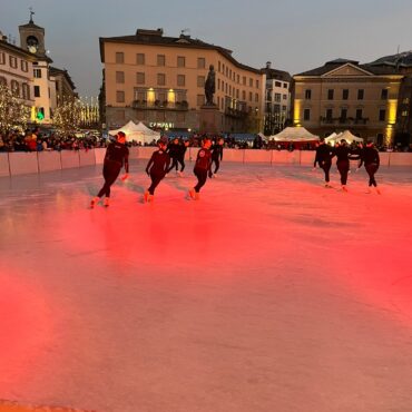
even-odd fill
[[[7,41],[0,32],[0,82],[8,86],[28,107],[35,104],[32,72],[35,57]]]

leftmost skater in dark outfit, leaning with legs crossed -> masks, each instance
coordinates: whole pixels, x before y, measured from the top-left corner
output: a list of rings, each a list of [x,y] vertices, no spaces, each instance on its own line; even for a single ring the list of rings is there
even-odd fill
[[[102,196],[106,196],[105,206],[109,206],[110,186],[116,182],[122,166],[125,166],[126,174],[121,177],[121,180],[126,180],[129,176],[129,149],[126,146],[126,135],[119,131],[117,134],[117,140],[110,143],[107,147],[102,170],[105,185],[91,200],[91,208],[97,205]]]

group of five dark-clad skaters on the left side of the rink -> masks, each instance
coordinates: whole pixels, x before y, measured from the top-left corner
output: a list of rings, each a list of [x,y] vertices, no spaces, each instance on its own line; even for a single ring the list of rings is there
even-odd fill
[[[183,176],[188,146],[188,141],[180,141],[178,138],[175,138],[170,144],[167,137],[161,137],[157,141],[157,150],[153,153],[146,166],[146,173],[150,177],[151,184],[144,194],[145,203],[154,200],[156,187],[173,169],[176,170],[177,175]],[[212,141],[209,137],[203,139],[193,170],[197,178],[197,184],[188,190],[189,198],[198,200],[200,189],[206,184],[207,177],[216,177],[223,159],[223,138],[217,138],[215,141]],[[213,166],[214,171],[212,171]],[[97,196],[91,199],[91,208],[104,197],[104,205],[106,207],[109,206],[110,187],[118,178],[122,167],[126,173],[121,180],[126,180],[129,177],[129,149],[126,146],[125,133],[119,131],[116,136],[116,141],[110,143],[107,147],[102,169],[105,184]]]

